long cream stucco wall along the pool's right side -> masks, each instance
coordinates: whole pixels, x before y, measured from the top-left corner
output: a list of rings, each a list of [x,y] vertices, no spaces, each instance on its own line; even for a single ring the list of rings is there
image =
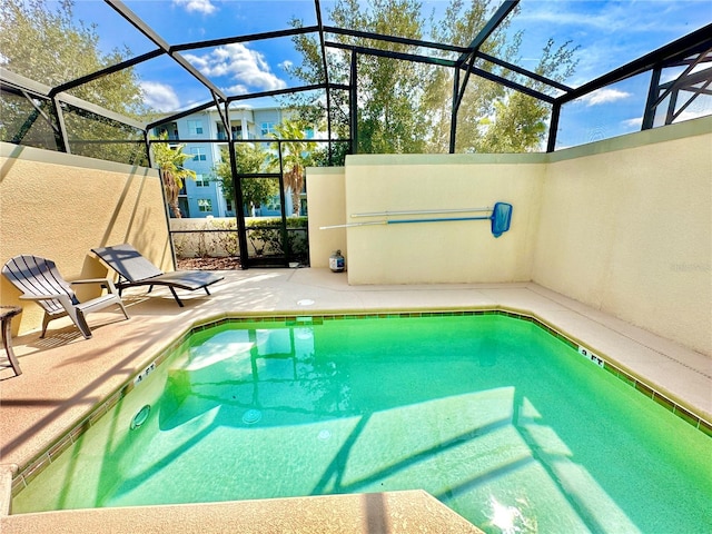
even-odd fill
[[[712,353],[712,119],[555,158],[532,279]]]

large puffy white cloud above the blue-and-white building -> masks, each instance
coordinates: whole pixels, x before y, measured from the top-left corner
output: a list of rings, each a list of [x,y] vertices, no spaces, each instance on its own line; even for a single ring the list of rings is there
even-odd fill
[[[218,47],[204,56],[186,55],[202,75],[229,77],[237,86],[271,91],[284,89],[287,83],[275,76],[265,57],[241,43]]]

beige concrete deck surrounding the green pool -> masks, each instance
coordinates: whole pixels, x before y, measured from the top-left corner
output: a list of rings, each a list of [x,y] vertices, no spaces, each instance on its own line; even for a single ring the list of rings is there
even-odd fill
[[[166,288],[157,288],[150,296],[145,294],[146,288],[127,290],[125,303],[130,320],[122,320],[119,312],[92,314],[88,322],[93,337],[89,340],[66,318],[50,323],[44,339],[39,338],[39,333],[13,339],[22,375],[13,376],[10,368],[0,370],[0,477],[4,483],[0,512],[8,510],[7,486],[13,469],[37,458],[190,325],[225,314],[319,315],[456,308],[522,312],[584,342],[600,356],[644,377],[657,392],[708,422],[712,419],[712,358],[536,284],[349,286],[345,274],[309,268],[249,269],[226,271],[224,281],[212,286],[211,296],[179,291],[186,297],[184,308],[178,307]],[[52,532],[98,532],[97,525],[108,527],[116,521],[123,525],[112,532],[136,532],[130,530],[131,524],[145,525],[142,532],[170,532],[171,525],[185,526],[189,521],[186,517],[200,521],[195,523],[200,524],[200,532],[224,532],[227,525],[233,532],[428,532],[428,525],[436,528],[429,532],[467,532],[459,516],[443,511],[444,506],[431,502],[432,497],[424,492],[378,495],[383,495],[386,504],[377,510],[366,506],[364,496],[353,495],[140,507],[121,513],[98,510],[10,515],[0,520],[0,532],[42,532],[41,525],[52,525]],[[418,514],[415,520],[413,514],[418,510],[428,513],[425,517]],[[144,521],[141,517],[151,520],[132,523]],[[329,521],[340,517],[344,522],[339,526],[332,521],[327,527],[325,517]],[[380,517],[379,530],[369,526],[374,517]],[[416,528],[404,528],[400,521],[404,517],[413,517],[409,524],[417,525]],[[279,523],[281,527],[270,523],[277,518],[285,522]],[[453,526],[448,531],[445,525],[449,524]]]

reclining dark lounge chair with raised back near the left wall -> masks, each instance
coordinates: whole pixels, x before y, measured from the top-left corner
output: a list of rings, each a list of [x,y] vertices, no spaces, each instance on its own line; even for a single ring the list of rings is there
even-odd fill
[[[207,270],[164,273],[127,243],[112,247],[92,248],[91,250],[119,274],[119,281],[116,283],[119,295],[125,287],[150,286],[148,293],[151,293],[154,286],[167,286],[174,294],[178,306],[182,307],[176,288],[189,291],[205,289],[205,293],[210,295],[208,286],[225,278]]]

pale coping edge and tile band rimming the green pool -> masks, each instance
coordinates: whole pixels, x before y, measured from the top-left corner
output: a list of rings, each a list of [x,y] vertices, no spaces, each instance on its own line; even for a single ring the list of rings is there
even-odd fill
[[[131,374],[128,380],[121,386],[116,388],[111,394],[105,397],[105,400],[98,403],[86,416],[81,417],[76,424],[71,425],[68,431],[63,432],[60,436],[53,439],[48,447],[41,453],[37,454],[32,459],[28,461],[23,466],[2,466],[0,472],[2,478],[0,479],[0,503],[2,510],[0,510],[0,517],[11,515],[11,501],[21,492],[28,484],[32,482],[47,466],[49,466],[53,458],[62,454],[69,448],[75,441],[93,426],[105,414],[108,413],[113,406],[116,406],[126,395],[128,395],[142,377],[145,377],[150,370],[161,365],[172,352],[182,345],[190,335],[197,332],[219,326],[227,323],[289,323],[293,325],[315,324],[315,318],[318,322],[324,320],[344,320],[344,319],[380,319],[380,318],[417,318],[417,317],[436,317],[436,316],[483,316],[483,315],[498,315],[512,317],[518,320],[525,320],[534,324],[535,326],[544,329],[550,335],[562,340],[571,348],[574,348],[578,354],[590,360],[592,364],[607,370],[616,378],[623,380],[627,385],[632,386],[639,393],[651,398],[669,412],[683,419],[685,423],[692,425],[703,434],[712,438],[712,423],[705,419],[703,416],[695,413],[695,408],[686,405],[681,399],[676,399],[674,395],[669,392],[662,392],[662,388],[656,388],[653,385],[645,382],[635,372],[616,362],[614,358],[606,354],[599,352],[593,344],[589,344],[578,339],[576,336],[571,335],[563,328],[556,326],[554,322],[544,319],[541,315],[533,313],[532,310],[517,308],[514,306],[497,305],[497,306],[466,306],[466,307],[433,307],[434,309],[402,309],[402,310],[358,310],[358,312],[334,312],[334,310],[314,310],[312,313],[219,313],[207,317],[195,319],[191,324],[185,326],[181,330],[175,333],[171,340],[154,352],[154,356],[147,358],[145,364],[139,367],[139,370]],[[290,325],[291,326],[291,325]],[[139,378],[141,377],[141,378]],[[7,485],[9,478],[8,473],[11,473],[10,487]],[[2,484],[4,482],[4,484]],[[308,497],[305,497],[308,498]],[[6,504],[7,503],[7,504]]]

